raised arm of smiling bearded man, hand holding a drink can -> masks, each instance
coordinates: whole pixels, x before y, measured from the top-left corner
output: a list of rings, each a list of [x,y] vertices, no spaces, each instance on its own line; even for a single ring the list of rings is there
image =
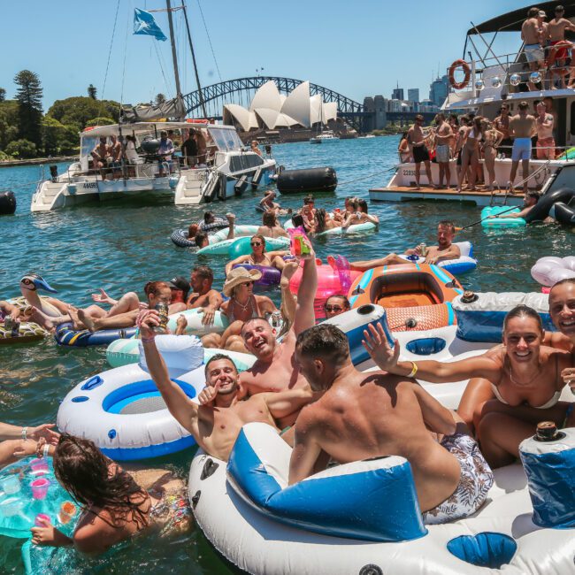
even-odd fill
[[[136,325],[142,334],[143,349],[146,354],[149,374],[162,394],[168,410],[180,426],[188,430],[189,433],[197,435],[198,406],[192,402],[183,389],[170,380],[168,369],[164,358],[157,351],[154,341],[153,327],[159,325],[156,310],[144,310],[140,312]]]

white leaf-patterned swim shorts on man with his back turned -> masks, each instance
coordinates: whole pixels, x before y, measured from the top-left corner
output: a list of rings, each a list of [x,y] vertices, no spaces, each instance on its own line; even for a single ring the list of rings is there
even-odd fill
[[[461,479],[455,492],[433,510],[423,514],[426,525],[437,525],[468,517],[479,510],[493,486],[491,468],[470,435],[446,435],[441,445],[456,456],[461,465]]]

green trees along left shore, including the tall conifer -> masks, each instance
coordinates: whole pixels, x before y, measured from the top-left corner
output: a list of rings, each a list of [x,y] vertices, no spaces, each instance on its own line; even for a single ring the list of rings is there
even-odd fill
[[[88,96],[57,100],[45,114],[36,73],[22,70],[14,84],[12,100],[6,98],[6,89],[0,88],[0,161],[77,154],[79,133],[85,127],[118,122],[119,103],[98,100],[92,84]]]

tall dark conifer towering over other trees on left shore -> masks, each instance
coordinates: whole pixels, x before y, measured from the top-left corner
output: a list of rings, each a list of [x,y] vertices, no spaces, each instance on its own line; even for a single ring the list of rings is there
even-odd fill
[[[17,73],[14,83],[19,86],[16,91],[19,115],[20,139],[35,143],[35,148],[42,147],[42,85],[38,75],[29,70]]]

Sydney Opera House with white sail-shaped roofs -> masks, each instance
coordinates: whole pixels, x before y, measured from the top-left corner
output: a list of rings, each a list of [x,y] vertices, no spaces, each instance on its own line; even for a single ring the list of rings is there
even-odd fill
[[[257,90],[249,109],[227,103],[223,116],[224,124],[233,124],[244,133],[284,132],[333,124],[337,119],[337,103],[322,102],[319,95],[310,96],[308,81],[284,96],[270,80]]]

